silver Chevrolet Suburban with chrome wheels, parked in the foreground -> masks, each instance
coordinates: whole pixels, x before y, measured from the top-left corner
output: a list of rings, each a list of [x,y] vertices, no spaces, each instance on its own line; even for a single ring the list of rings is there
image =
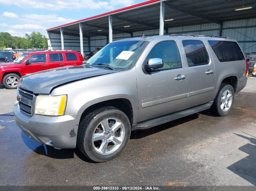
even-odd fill
[[[81,66],[21,78],[15,121],[39,143],[117,157],[131,131],[211,109],[227,115],[247,82],[235,40],[171,34],[109,43]]]

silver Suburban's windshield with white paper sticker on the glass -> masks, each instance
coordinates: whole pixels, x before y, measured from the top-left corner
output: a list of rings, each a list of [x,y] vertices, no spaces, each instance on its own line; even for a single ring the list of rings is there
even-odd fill
[[[128,70],[132,68],[148,41],[121,41],[113,42],[99,50],[86,63],[90,65],[107,64],[113,69]],[[98,65],[104,67],[104,65]]]

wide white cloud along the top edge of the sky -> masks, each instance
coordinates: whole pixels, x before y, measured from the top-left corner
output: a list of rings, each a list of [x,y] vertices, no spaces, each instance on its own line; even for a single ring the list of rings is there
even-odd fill
[[[120,1],[120,0],[119,0]],[[129,1],[129,0],[125,0]],[[121,1],[120,1],[121,2]],[[20,8],[42,8],[47,10],[61,10],[61,9],[114,9],[107,1],[94,0],[0,0],[0,4],[16,5]],[[123,3],[121,3],[123,4]],[[117,5],[117,4],[116,4]]]

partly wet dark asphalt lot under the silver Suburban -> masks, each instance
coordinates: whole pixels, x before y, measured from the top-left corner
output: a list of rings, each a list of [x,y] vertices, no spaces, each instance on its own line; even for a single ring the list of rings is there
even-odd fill
[[[256,185],[255,95],[248,77],[228,116],[204,111],[137,130],[118,158],[92,163],[28,138],[12,116],[16,90],[0,85],[0,185]]]

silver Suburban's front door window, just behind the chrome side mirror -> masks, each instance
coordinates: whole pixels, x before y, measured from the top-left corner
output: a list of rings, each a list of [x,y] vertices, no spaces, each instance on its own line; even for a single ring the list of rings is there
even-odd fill
[[[161,69],[181,68],[181,60],[177,45],[174,41],[164,41],[158,43],[149,53],[147,59],[161,58],[164,66]]]

